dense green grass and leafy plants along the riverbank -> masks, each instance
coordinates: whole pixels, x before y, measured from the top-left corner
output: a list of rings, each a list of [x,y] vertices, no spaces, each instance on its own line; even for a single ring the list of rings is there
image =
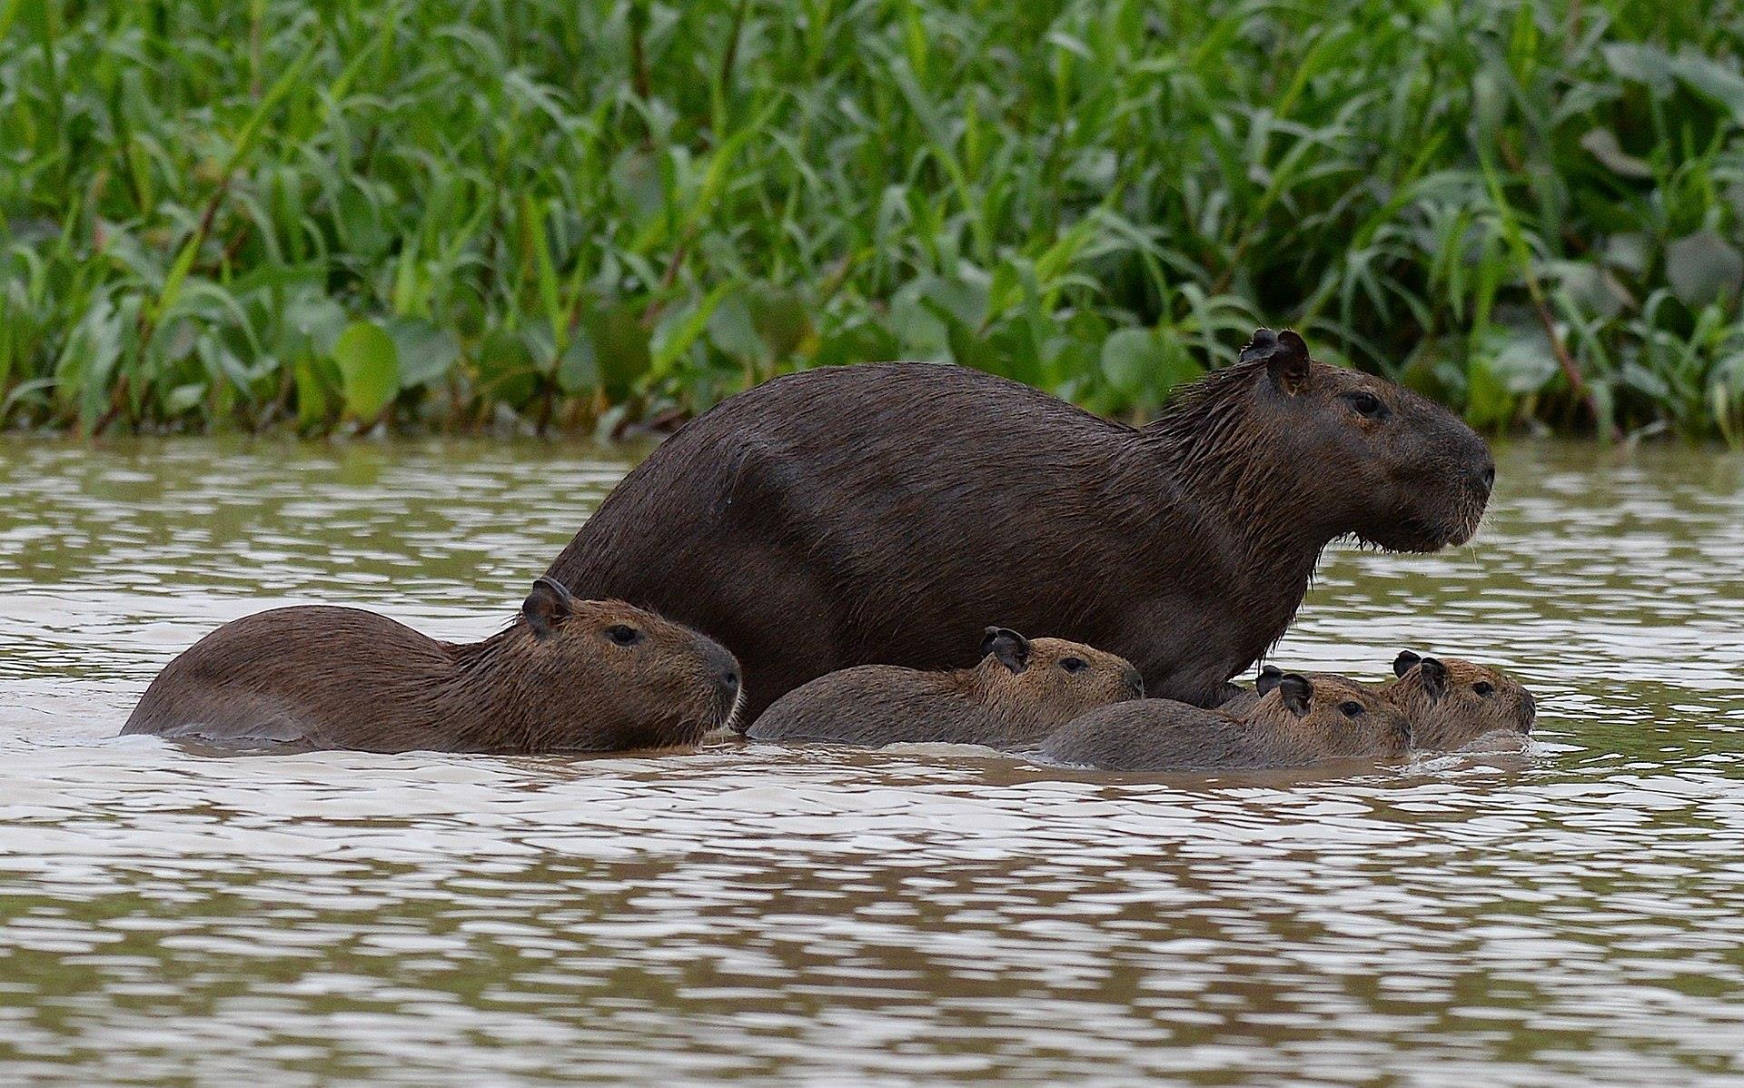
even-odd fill
[[[0,0],[0,425],[588,427],[1261,323],[1744,443],[1735,0]]]

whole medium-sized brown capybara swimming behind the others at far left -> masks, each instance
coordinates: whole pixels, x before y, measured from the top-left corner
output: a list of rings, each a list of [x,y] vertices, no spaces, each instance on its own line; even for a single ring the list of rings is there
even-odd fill
[[[521,621],[469,645],[358,609],[227,622],[152,680],[122,732],[218,746],[616,751],[727,724],[739,668],[689,628],[534,582]]]

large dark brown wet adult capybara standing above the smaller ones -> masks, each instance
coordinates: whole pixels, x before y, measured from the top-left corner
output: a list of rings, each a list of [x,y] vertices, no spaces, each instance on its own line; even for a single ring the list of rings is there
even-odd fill
[[[1142,429],[961,366],[825,368],[682,427],[549,575],[719,638],[752,717],[855,664],[971,664],[989,615],[1214,706],[1327,542],[1460,544],[1493,478],[1470,427],[1289,331]]]

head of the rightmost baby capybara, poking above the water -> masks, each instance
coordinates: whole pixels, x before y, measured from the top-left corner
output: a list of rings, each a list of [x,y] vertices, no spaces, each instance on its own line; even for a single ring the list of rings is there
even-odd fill
[[[1446,751],[1491,732],[1526,734],[1538,717],[1519,680],[1474,661],[1404,650],[1393,659],[1393,675],[1399,680],[1386,697],[1411,718],[1418,748]]]

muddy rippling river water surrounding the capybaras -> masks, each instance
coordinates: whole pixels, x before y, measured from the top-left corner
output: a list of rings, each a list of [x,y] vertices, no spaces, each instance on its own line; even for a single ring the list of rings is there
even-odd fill
[[[1744,460],[1500,466],[1277,659],[1493,661],[1528,750],[1144,778],[117,738],[246,612],[494,629],[624,455],[0,443],[0,1085],[1744,1085]]]

